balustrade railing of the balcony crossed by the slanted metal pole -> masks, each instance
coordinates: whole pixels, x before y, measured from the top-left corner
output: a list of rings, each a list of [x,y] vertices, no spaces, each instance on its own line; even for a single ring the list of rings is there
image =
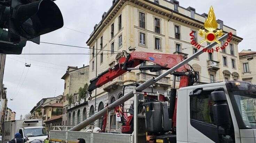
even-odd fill
[[[156,78],[157,75],[140,72],[140,73],[137,73],[137,82],[145,82],[153,77]],[[170,78],[164,77],[161,80],[159,80],[157,84],[170,86]]]

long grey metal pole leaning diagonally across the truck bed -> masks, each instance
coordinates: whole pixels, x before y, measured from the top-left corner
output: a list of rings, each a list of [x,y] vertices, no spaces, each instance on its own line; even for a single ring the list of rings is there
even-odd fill
[[[223,35],[222,37],[220,37],[218,40],[223,41],[224,39],[227,38],[227,36],[228,36],[228,33]],[[208,46],[206,46],[205,48],[208,49],[208,48],[211,48],[215,45],[217,45],[217,42],[211,43]],[[201,55],[202,53],[204,53],[204,51],[200,50],[200,51],[196,52],[194,55],[192,55],[191,57],[189,57],[189,58],[185,59],[184,61],[180,62],[179,64],[173,66],[171,69],[167,70],[165,73],[159,75],[157,78],[151,78],[151,79],[147,80],[146,82],[140,84],[140,86],[138,86],[136,88],[136,91],[143,91],[144,89],[151,86],[153,83],[156,83],[160,79],[162,79],[162,78],[166,77],[167,75],[171,74],[172,72],[176,71],[178,68],[180,68],[184,64],[188,63],[189,61],[193,60],[195,57]],[[80,123],[80,124],[76,125],[75,127],[71,128],[69,131],[80,131],[85,126],[88,126],[91,122],[94,122],[95,120],[102,117],[107,112],[108,108],[109,109],[115,108],[116,106],[121,105],[123,102],[129,100],[132,97],[133,97],[133,91],[130,91],[129,93],[127,93],[127,95],[119,98],[118,100],[116,100],[115,102],[110,104],[108,107],[103,108],[99,112],[95,113],[93,116],[84,120],[82,123]]]

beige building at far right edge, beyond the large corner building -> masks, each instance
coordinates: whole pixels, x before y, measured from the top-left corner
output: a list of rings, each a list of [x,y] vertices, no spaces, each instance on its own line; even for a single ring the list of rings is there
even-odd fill
[[[256,51],[243,50],[239,58],[241,79],[256,84]]]

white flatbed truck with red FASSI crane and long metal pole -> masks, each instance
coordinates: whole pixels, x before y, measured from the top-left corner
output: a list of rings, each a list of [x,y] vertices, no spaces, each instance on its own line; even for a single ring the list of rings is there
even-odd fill
[[[227,36],[230,34],[225,34],[219,41]],[[214,45],[216,42],[205,48]],[[194,85],[198,76],[188,62],[203,52],[198,51],[187,58],[181,55],[124,51],[124,57],[119,59],[116,66],[90,81],[89,93],[131,70],[167,71],[135,86],[134,90],[69,131],[51,131],[50,142],[68,143],[82,137],[86,143],[254,143],[256,85],[243,81]],[[153,62],[154,65],[137,67],[143,61]],[[173,75],[173,88],[168,95],[145,90],[168,74]],[[181,77],[178,91],[174,88],[177,76]],[[139,95],[143,95],[142,100],[138,100]],[[123,110],[122,104],[130,98],[133,98],[134,104],[129,109],[132,112],[126,112],[124,116],[122,134],[80,131],[91,122],[105,117],[114,108],[119,110],[118,114],[124,113],[120,111]],[[141,116],[145,119],[139,120]]]

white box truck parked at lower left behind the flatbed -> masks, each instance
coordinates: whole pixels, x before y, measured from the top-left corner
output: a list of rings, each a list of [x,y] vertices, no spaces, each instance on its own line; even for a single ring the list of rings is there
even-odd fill
[[[8,142],[14,138],[15,133],[20,133],[21,137],[28,137],[30,141],[40,139],[44,141],[48,137],[48,132],[42,126],[42,119],[12,120],[3,123],[2,142]]]

